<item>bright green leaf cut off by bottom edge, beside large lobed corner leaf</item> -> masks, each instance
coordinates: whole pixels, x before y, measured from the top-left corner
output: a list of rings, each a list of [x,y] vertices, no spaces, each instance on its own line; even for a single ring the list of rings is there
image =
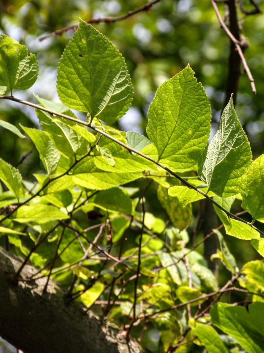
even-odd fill
[[[192,331],[199,338],[202,345],[205,346],[208,353],[230,352],[221,341],[218,333],[211,326],[198,325]]]

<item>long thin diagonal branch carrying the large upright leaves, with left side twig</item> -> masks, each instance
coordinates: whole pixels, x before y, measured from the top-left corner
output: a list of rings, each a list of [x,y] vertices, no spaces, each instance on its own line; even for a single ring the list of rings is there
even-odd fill
[[[33,108],[36,108],[36,109],[39,109],[39,110],[43,110],[44,112],[47,112],[47,113],[49,113],[49,114],[51,114],[51,115],[61,116],[61,118],[64,118],[64,119],[67,119],[67,120],[71,120],[71,121],[76,122],[77,124],[81,124],[81,125],[84,125],[84,126],[89,127],[90,129],[92,129],[92,130],[94,130],[94,131],[100,133],[102,136],[105,136],[105,137],[107,137],[108,139],[112,140],[113,142],[115,142],[115,143],[119,144],[120,146],[124,147],[124,148],[127,149],[128,151],[134,152],[134,153],[136,153],[137,155],[139,155],[139,156],[145,158],[146,160],[148,160],[148,161],[150,161],[150,162],[156,164],[157,166],[161,167],[162,169],[166,170],[166,172],[170,173],[170,174],[173,175],[176,179],[180,180],[181,183],[184,184],[184,185],[186,185],[189,189],[193,189],[193,190],[195,190],[196,192],[200,193],[203,197],[207,198],[210,202],[212,202],[214,205],[216,205],[216,207],[218,207],[220,210],[224,211],[228,216],[233,217],[234,219],[236,219],[236,220],[238,220],[238,221],[240,221],[240,222],[243,222],[243,223],[249,225],[250,227],[252,227],[253,229],[255,229],[257,232],[259,232],[259,234],[261,234],[261,235],[264,237],[264,233],[263,233],[262,231],[260,231],[258,228],[256,228],[254,225],[252,225],[251,222],[247,222],[247,221],[245,221],[245,220],[243,220],[243,219],[237,217],[236,215],[234,215],[233,213],[229,212],[229,211],[226,210],[224,207],[222,207],[221,205],[219,205],[217,202],[215,202],[215,201],[214,201],[211,197],[209,197],[205,192],[203,192],[202,190],[198,189],[196,186],[194,186],[194,185],[188,183],[188,181],[186,181],[185,179],[183,179],[182,177],[180,177],[180,175],[174,173],[171,169],[165,167],[163,164],[161,164],[160,162],[157,162],[155,159],[153,159],[153,158],[151,158],[151,157],[149,157],[149,156],[147,156],[147,155],[144,155],[142,152],[139,152],[139,151],[135,150],[134,148],[132,148],[132,147],[126,145],[125,143],[123,143],[123,142],[119,141],[118,139],[114,138],[113,136],[108,135],[108,133],[106,133],[106,132],[103,131],[103,130],[100,130],[98,127],[95,127],[95,126],[93,126],[93,125],[90,125],[90,124],[89,124],[88,122],[86,122],[86,121],[78,120],[78,119],[72,118],[71,116],[68,116],[68,115],[65,115],[65,114],[62,114],[62,113],[58,113],[58,112],[54,112],[53,110],[50,110],[50,109],[47,109],[47,108],[38,106],[37,104],[31,103],[31,102],[27,102],[27,101],[20,100],[20,99],[18,99],[18,98],[13,97],[13,96],[0,96],[0,99],[7,99],[7,100],[11,100],[11,101],[18,102],[18,103],[21,103],[21,104],[25,104],[25,105],[27,105],[27,106],[30,106],[30,107],[33,107]],[[94,146],[93,146],[93,148],[94,148]],[[84,158],[84,157],[82,157],[81,159],[83,159],[83,158]],[[80,160],[79,160],[79,161],[80,161]],[[78,162],[79,162],[79,161],[78,161]],[[74,165],[75,165],[75,164],[74,164]],[[72,167],[71,167],[71,168],[72,168]],[[65,172],[64,174],[67,174],[67,172]],[[63,175],[64,175],[64,174],[63,174]],[[56,179],[58,179],[58,177],[56,177]],[[52,180],[55,180],[55,178],[52,179]],[[42,190],[43,190],[45,187],[46,187],[46,186],[43,186]],[[40,191],[42,191],[42,190],[39,190],[38,193],[39,193]],[[35,196],[36,196],[36,194],[35,194]],[[30,199],[26,200],[24,203],[18,205],[17,208],[20,207],[21,205],[23,205],[23,204],[29,202],[33,197],[34,197],[34,196],[32,196]],[[17,209],[17,208],[16,208],[16,209]],[[16,209],[15,209],[15,210],[16,210]],[[13,213],[15,210],[13,210],[11,213]],[[11,213],[10,213],[10,214],[11,214]],[[10,215],[10,214],[9,214],[9,215]],[[9,215],[6,216],[5,219],[8,218]],[[3,221],[3,220],[4,220],[4,219],[2,219],[2,221]]]

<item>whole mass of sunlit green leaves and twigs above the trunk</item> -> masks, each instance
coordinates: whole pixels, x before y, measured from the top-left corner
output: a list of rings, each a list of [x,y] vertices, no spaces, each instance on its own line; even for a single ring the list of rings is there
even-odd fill
[[[15,100],[13,89],[29,88],[37,72],[34,55],[2,35],[0,84],[11,96],[1,98]],[[262,232],[253,225],[264,222],[264,155],[252,162],[232,97],[208,143],[210,104],[187,66],[158,88],[148,138],[110,127],[131,104],[130,76],[113,44],[83,21],[59,61],[57,91],[61,103],[36,96],[41,130],[20,125],[45,173],[34,174],[35,182],[23,180],[0,160],[0,232],[24,263],[38,268],[32,278],[46,276],[48,286],[52,276],[70,300],[97,310],[152,352],[180,351],[181,345],[189,352],[200,346],[208,352],[262,352],[263,262],[239,270],[214,229],[214,258],[230,271],[219,288],[197,245],[187,247],[192,203],[209,198],[226,234],[250,240],[264,255]],[[87,121],[70,108],[87,113]],[[11,124],[2,126],[24,137]],[[139,179],[143,190],[133,187]],[[148,212],[153,184],[171,226]],[[252,222],[230,213],[235,199]],[[249,311],[216,303],[227,291],[251,295]]]

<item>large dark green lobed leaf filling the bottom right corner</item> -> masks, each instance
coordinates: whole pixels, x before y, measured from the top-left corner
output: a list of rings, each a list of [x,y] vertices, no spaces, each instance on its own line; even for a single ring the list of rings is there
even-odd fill
[[[234,337],[246,352],[263,352],[263,326],[258,321],[263,323],[264,303],[250,304],[248,312],[243,306],[216,303],[210,309],[210,315],[213,324]]]

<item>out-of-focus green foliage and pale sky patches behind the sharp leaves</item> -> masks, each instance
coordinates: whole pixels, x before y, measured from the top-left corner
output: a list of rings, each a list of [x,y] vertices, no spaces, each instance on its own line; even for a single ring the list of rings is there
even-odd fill
[[[60,56],[73,31],[61,36],[52,36],[43,41],[39,38],[55,30],[78,23],[79,18],[88,20],[97,17],[119,16],[145,4],[143,0],[2,0],[0,1],[0,31],[26,44],[29,51],[37,55],[40,72],[37,82],[27,91],[15,91],[17,98],[37,103],[33,92],[48,100],[58,101],[56,92],[56,71]],[[264,0],[258,0],[264,11]],[[222,16],[225,4],[219,2]],[[250,2],[244,6],[251,9]],[[236,111],[247,136],[253,158],[264,152],[264,14],[246,16],[239,12],[239,23],[249,47],[245,51],[247,63],[255,79],[257,95],[253,95],[249,80],[242,74],[239,84]],[[228,74],[229,40],[219,26],[210,1],[161,0],[151,10],[140,12],[115,23],[99,23],[95,27],[106,35],[125,57],[134,86],[134,100],[127,114],[117,127],[122,130],[145,132],[147,109],[157,87],[181,71],[187,64],[193,68],[208,94],[212,107],[212,132],[214,136],[223,108],[225,86]],[[19,128],[38,126],[32,108],[14,102],[1,100],[0,118]],[[82,116],[78,115],[80,118]],[[85,119],[85,116],[83,116]],[[16,165],[21,157],[32,149],[29,139],[19,139],[0,127],[0,157]],[[23,178],[32,178],[40,172],[36,149],[19,166]],[[144,190],[145,180],[138,180],[131,186]],[[157,186],[152,183],[147,196],[151,212],[166,221],[168,216],[157,199]],[[199,205],[194,204],[194,215]],[[239,204],[235,205],[239,210]],[[195,219],[190,225],[194,226]],[[129,238],[129,237],[128,237]],[[196,241],[202,239],[198,235]],[[238,265],[258,258],[253,247],[245,241],[226,237]],[[129,248],[131,244],[127,244]],[[203,252],[203,245],[198,248]],[[220,264],[220,286],[228,279],[228,273]],[[226,298],[224,298],[225,300]],[[235,299],[233,298],[235,301]],[[239,298],[238,298],[239,300]],[[157,330],[148,332],[157,335]],[[155,336],[156,337],[156,336]],[[154,341],[155,341],[154,337]]]

